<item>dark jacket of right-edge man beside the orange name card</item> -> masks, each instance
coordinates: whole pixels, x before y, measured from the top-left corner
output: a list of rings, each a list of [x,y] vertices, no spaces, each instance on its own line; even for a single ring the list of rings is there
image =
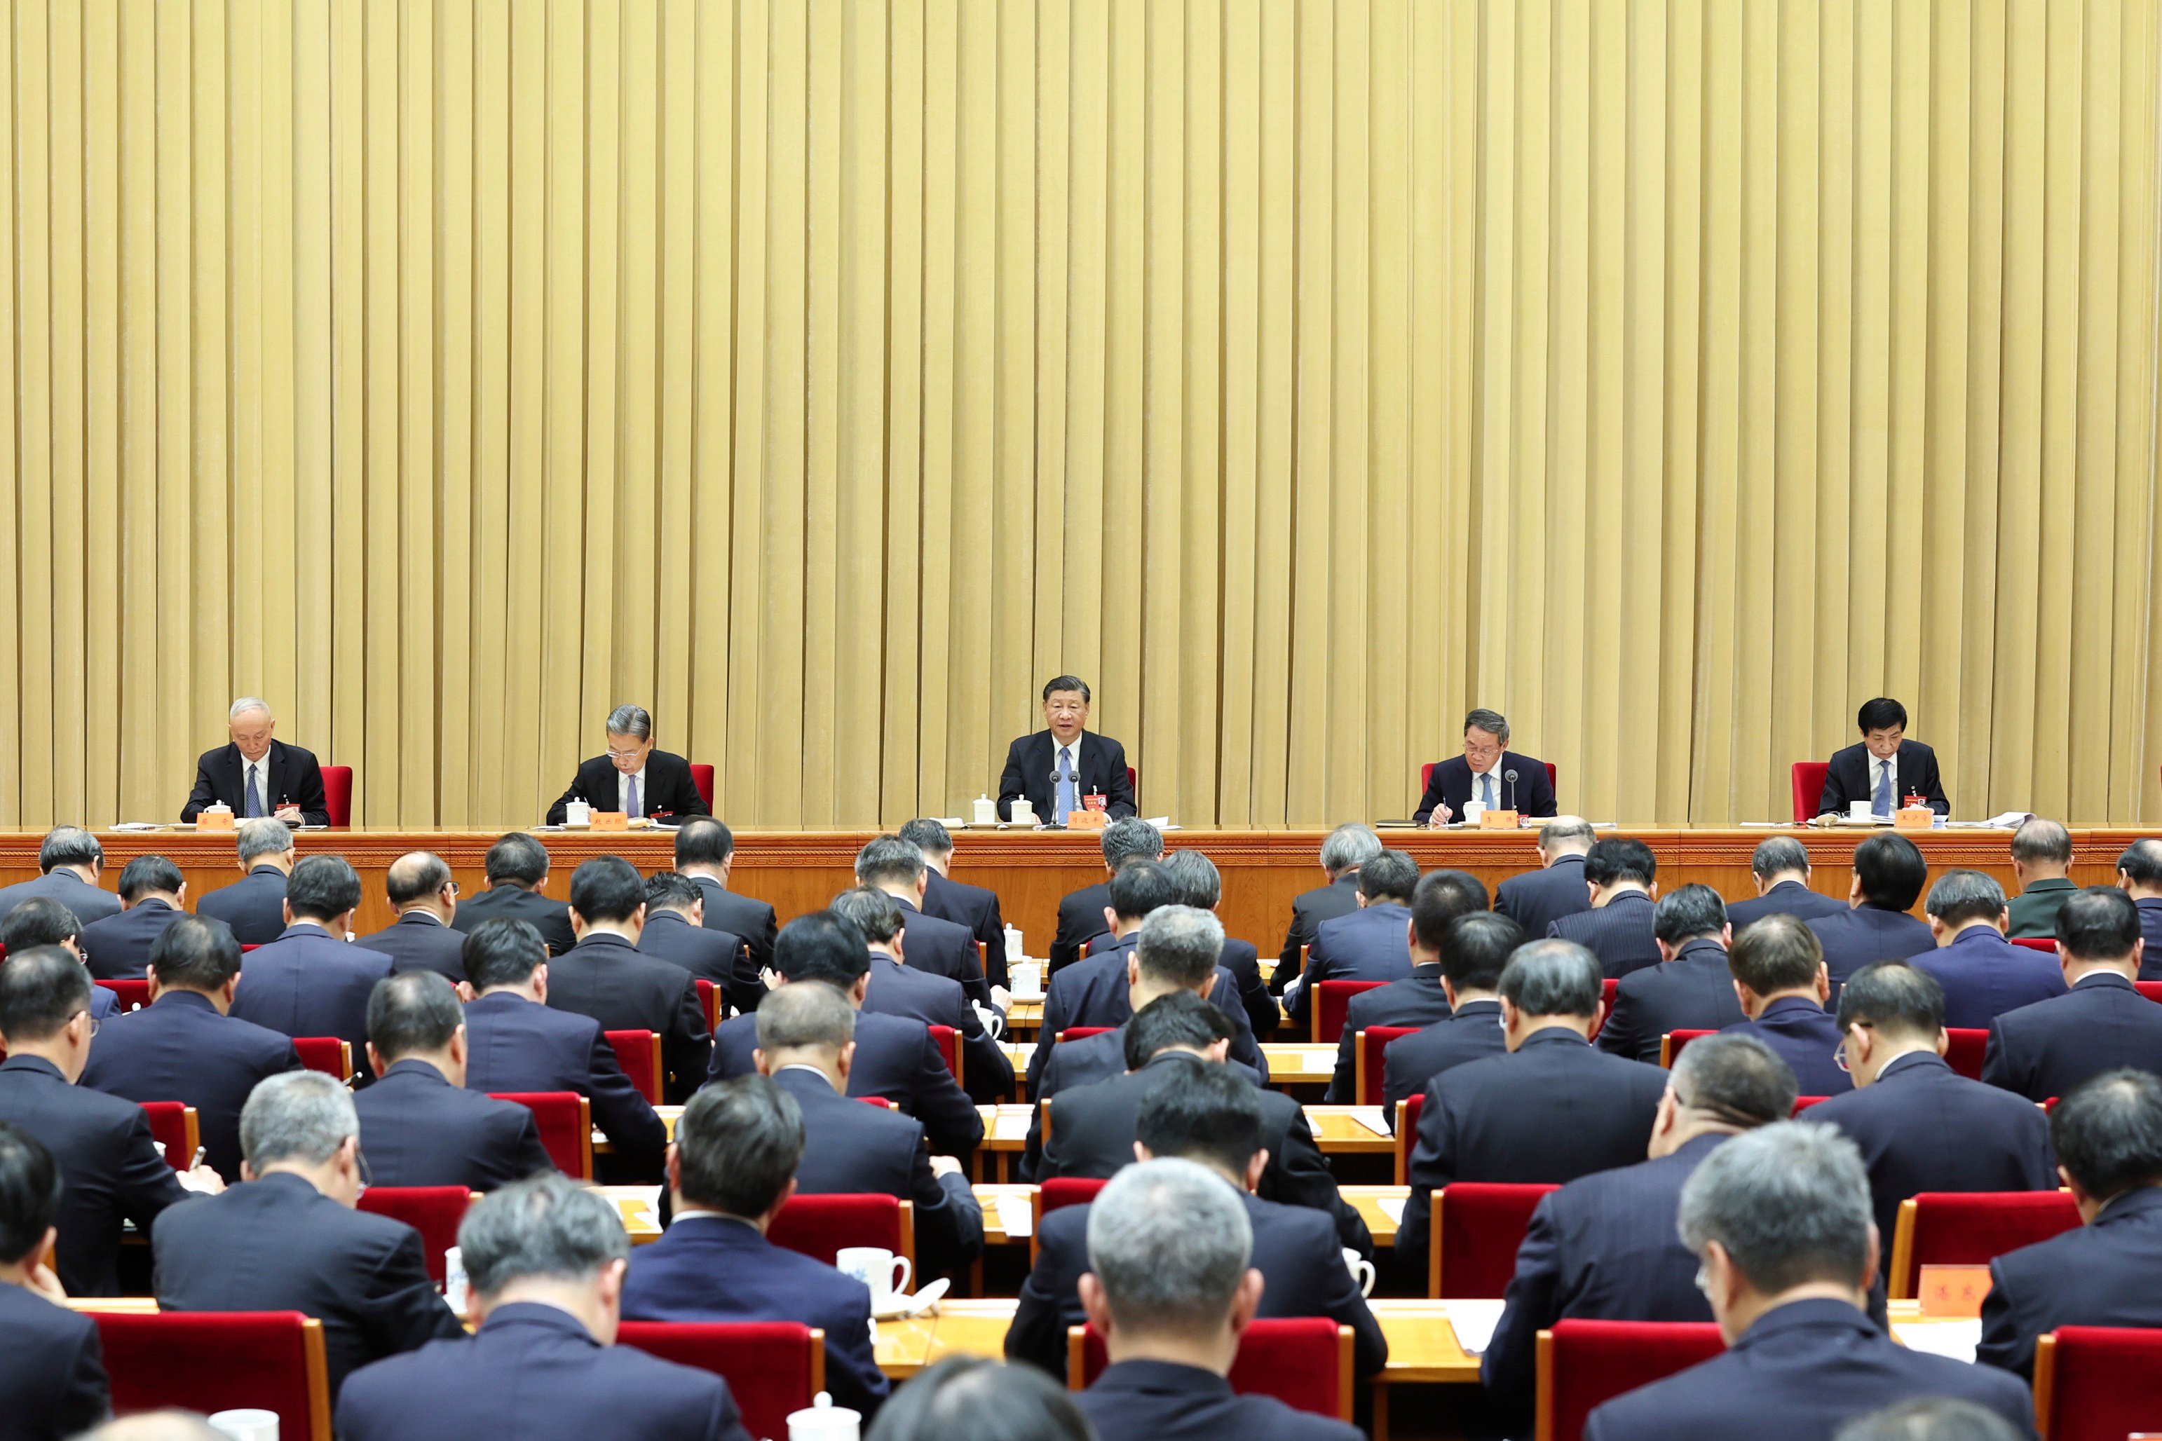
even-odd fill
[[[2162,1188],[2134,1186],[2091,1225],[1989,1262],[1974,1359],[2030,1376],[2058,1326],[2162,1326]]]

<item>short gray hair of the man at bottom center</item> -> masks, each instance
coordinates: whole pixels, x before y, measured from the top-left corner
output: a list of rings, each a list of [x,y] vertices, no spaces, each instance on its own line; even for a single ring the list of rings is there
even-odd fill
[[[1124,1167],[1087,1210],[1090,1270],[1129,1331],[1213,1333],[1252,1253],[1239,1195],[1191,1160]]]

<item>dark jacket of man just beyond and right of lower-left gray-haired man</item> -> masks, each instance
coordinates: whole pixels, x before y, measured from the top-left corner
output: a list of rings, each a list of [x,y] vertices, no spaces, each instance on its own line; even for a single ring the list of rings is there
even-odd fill
[[[495,1190],[556,1169],[532,1110],[454,1087],[426,1061],[393,1063],[352,1108],[376,1186]]]

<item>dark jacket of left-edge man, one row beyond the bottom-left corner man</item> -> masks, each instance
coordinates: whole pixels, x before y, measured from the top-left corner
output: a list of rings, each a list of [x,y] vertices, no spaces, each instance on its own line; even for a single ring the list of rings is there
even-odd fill
[[[43,1141],[61,1164],[61,1240],[52,1251],[61,1285],[69,1296],[117,1296],[121,1221],[149,1229],[188,1195],[151,1145],[143,1108],[71,1087],[52,1061],[26,1054],[0,1061],[0,1121]]]

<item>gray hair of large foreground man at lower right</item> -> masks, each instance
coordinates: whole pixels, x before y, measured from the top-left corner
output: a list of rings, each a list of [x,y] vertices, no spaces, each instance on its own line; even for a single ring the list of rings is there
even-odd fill
[[[1734,1136],[1682,1186],[1676,1231],[1695,1255],[1717,1240],[1766,1296],[1810,1281],[1861,1285],[1870,1266],[1861,1152],[1810,1121]]]

